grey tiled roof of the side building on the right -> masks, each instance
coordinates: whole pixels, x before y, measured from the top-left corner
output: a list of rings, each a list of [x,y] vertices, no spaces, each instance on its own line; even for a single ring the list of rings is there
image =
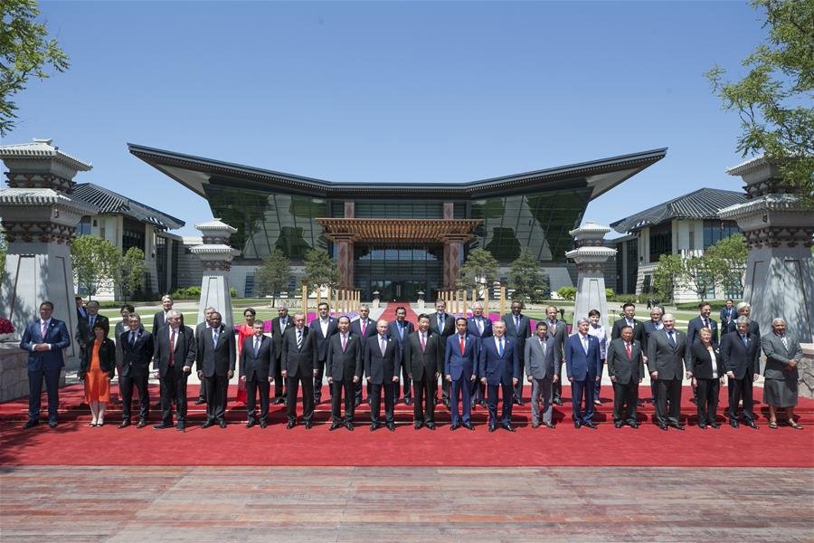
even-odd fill
[[[611,223],[611,228],[618,233],[629,233],[672,219],[717,219],[718,210],[745,201],[743,192],[702,188]]]

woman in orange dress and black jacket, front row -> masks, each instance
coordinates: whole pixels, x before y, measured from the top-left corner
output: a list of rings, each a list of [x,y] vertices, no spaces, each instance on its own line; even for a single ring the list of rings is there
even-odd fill
[[[108,327],[101,322],[93,326],[93,336],[82,355],[79,376],[85,381],[85,403],[93,415],[89,426],[101,426],[105,424],[110,379],[116,369],[116,344],[108,338]]]

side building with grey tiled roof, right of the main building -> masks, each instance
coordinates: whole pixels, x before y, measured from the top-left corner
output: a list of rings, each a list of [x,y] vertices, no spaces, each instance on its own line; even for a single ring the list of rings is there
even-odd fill
[[[718,218],[718,211],[745,201],[743,192],[702,188],[611,223],[616,232],[626,234],[612,240],[617,250],[617,291],[650,292],[653,271],[662,254],[701,255],[710,245],[740,232],[734,221]],[[705,298],[737,299],[741,295],[740,286],[718,285]],[[691,301],[697,299],[697,294],[683,286],[677,289],[675,297],[677,301]]]

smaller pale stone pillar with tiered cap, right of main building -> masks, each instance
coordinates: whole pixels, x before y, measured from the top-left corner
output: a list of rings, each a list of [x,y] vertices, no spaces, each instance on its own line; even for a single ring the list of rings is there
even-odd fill
[[[569,234],[573,235],[577,248],[565,253],[565,257],[577,265],[577,293],[573,306],[573,321],[587,319],[588,311],[599,310],[601,324],[610,334],[608,319],[608,298],[605,296],[605,262],[616,254],[616,249],[605,247],[604,237],[611,232],[608,226],[582,225]]]

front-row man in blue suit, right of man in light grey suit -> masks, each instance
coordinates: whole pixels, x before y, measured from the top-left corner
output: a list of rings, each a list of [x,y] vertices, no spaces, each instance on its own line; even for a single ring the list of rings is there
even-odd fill
[[[580,319],[579,332],[565,340],[565,373],[571,383],[573,427],[588,426],[596,430],[592,421],[593,391],[601,375],[602,359],[599,339],[588,333],[590,326],[587,319]],[[585,414],[582,414],[582,395],[585,396]]]

